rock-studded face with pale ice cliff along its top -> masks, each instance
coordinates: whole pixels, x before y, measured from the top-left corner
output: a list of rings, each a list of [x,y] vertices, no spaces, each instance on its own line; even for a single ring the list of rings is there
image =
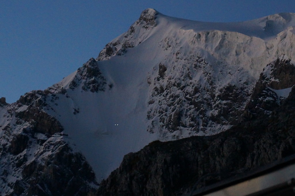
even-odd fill
[[[186,30],[163,39],[160,47],[170,54],[148,76],[148,130],[178,139],[237,123],[263,67],[283,54],[294,56],[292,29],[267,42],[216,30]]]

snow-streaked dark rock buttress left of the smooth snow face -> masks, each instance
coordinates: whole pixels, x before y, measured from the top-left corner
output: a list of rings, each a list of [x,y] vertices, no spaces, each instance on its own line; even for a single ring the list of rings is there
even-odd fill
[[[4,106],[9,123],[0,132],[0,195],[91,196],[96,191],[85,157],[65,142],[62,125],[44,111],[46,99],[55,96],[32,91]]]

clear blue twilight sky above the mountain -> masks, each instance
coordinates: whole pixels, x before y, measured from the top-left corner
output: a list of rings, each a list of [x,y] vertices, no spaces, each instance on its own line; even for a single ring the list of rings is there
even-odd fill
[[[0,0],[0,97],[8,103],[77,70],[146,8],[208,22],[295,12],[294,0]]]

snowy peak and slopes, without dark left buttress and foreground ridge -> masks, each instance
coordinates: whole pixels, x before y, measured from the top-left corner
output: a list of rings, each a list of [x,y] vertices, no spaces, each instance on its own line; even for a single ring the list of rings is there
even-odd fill
[[[293,13],[208,23],[147,9],[96,60],[34,99],[100,181],[152,141],[216,134],[237,123],[263,68],[294,59],[294,26]]]

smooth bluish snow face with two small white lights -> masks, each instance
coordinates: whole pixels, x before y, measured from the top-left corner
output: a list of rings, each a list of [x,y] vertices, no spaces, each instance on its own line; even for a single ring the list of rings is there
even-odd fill
[[[82,152],[99,180],[117,168],[125,154],[158,139],[146,131],[149,57],[136,58],[142,51],[133,52],[130,58],[97,62],[107,78],[104,91],[84,91],[82,80],[47,102],[53,108],[47,113],[60,121],[68,143]]]

